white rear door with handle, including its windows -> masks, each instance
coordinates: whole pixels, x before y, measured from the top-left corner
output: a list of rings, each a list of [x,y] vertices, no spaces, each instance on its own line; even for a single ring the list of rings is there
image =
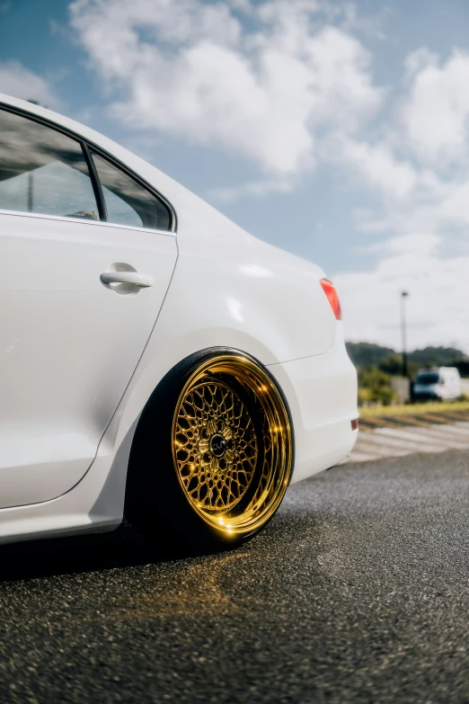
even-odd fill
[[[0,507],[84,476],[173,274],[171,210],[94,158],[0,111]]]

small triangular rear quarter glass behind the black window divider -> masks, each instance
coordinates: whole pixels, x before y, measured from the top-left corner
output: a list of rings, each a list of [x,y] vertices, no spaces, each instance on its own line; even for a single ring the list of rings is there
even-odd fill
[[[171,216],[164,203],[140,183],[92,152],[101,185],[108,222],[117,225],[169,230]]]

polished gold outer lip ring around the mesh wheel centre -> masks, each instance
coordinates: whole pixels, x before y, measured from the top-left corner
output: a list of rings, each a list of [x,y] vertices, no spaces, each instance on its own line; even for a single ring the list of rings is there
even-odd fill
[[[210,512],[192,500],[179,471],[175,444],[178,415],[181,404],[190,388],[195,386],[200,379],[219,373],[233,377],[255,397],[257,407],[263,414],[263,423],[267,423],[270,432],[270,448],[266,453],[266,455],[269,454],[270,463],[269,459],[263,460],[261,480],[259,486],[255,488],[253,499],[242,512],[237,514],[236,506],[241,500],[225,512]],[[217,532],[224,534],[226,539],[259,530],[277,511],[291,477],[293,433],[288,409],[279,388],[270,377],[269,372],[249,356],[228,352],[217,354],[201,362],[199,367],[190,374],[181,390],[174,410],[172,445],[174,468],[187,501],[203,521],[211,528],[216,529]]]

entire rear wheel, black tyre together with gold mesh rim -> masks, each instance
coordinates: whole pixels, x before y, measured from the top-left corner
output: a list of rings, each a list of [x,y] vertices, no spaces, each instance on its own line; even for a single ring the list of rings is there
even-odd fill
[[[269,372],[238,350],[198,352],[141,415],[125,515],[178,553],[233,548],[270,521],[292,468],[288,407]]]

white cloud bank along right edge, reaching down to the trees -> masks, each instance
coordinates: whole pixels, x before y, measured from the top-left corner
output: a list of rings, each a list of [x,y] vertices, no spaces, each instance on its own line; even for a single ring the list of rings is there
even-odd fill
[[[350,339],[399,349],[400,293],[408,290],[409,346],[469,352],[469,54],[453,51],[442,63],[419,49],[405,69],[381,141],[341,136],[327,145],[327,158],[380,196],[376,210],[356,212],[358,229],[391,234],[369,245],[376,263],[368,271],[334,281]]]

